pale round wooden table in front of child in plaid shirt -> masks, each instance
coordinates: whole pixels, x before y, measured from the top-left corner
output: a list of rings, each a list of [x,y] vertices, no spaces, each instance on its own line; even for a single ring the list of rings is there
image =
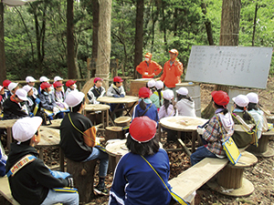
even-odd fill
[[[192,152],[195,152],[195,139],[197,138],[197,126],[202,126],[207,122],[208,119],[205,118],[195,118],[186,116],[175,116],[166,117],[160,119],[159,123],[159,136],[161,138],[161,127],[169,128],[178,131],[178,138],[180,138],[180,132],[191,132],[192,133]]]

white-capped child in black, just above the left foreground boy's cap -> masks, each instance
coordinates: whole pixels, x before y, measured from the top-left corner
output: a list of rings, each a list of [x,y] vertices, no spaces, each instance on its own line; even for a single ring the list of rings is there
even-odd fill
[[[20,103],[27,100],[25,89],[19,88],[16,93],[8,97],[3,103],[3,119],[24,118],[27,117]]]

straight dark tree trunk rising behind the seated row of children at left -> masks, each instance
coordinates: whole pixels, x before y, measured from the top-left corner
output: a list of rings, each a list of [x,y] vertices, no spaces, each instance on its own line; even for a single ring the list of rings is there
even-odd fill
[[[75,67],[74,54],[74,36],[73,36],[73,0],[67,0],[67,67],[68,78],[75,79],[77,77]]]

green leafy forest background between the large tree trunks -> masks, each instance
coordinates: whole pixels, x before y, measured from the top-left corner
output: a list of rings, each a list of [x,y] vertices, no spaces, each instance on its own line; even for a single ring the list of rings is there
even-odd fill
[[[92,37],[96,28],[95,16],[99,12],[97,1],[74,1],[74,53],[78,78],[88,77],[87,58],[94,57],[96,49],[92,47]],[[119,60],[118,75],[136,77],[134,49],[138,27],[135,24],[140,16],[143,19],[142,56],[151,52],[153,60],[162,66],[169,59],[168,50],[172,48],[179,51],[178,58],[187,68],[193,45],[219,45],[222,1],[143,0],[141,15],[136,12],[138,3],[140,0],[112,0],[111,59]],[[239,46],[273,46],[273,5],[270,0],[241,1]],[[28,75],[68,78],[66,15],[67,0],[36,1],[16,7],[5,5],[7,79],[25,79]],[[272,57],[269,75],[274,74],[273,63]]]

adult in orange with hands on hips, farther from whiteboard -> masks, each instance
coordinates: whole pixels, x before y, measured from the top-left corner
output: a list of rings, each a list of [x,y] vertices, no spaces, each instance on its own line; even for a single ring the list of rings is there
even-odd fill
[[[142,75],[142,78],[153,78],[160,74],[163,69],[159,64],[152,60],[152,56],[151,53],[144,55],[145,60],[136,67],[137,72]]]

